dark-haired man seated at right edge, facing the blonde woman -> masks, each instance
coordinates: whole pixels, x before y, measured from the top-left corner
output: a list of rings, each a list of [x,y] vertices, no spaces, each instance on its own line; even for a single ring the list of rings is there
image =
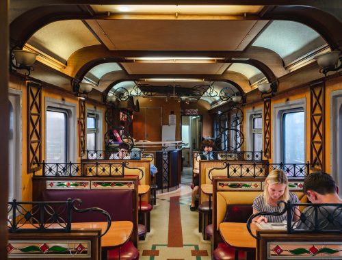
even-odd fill
[[[341,204],[339,187],[330,174],[315,172],[308,174],[304,179],[303,192],[311,203]],[[315,229],[315,207],[308,206],[304,209],[301,222],[295,229]],[[342,229],[342,204],[339,206],[322,206],[317,209],[318,229],[341,230]]]

